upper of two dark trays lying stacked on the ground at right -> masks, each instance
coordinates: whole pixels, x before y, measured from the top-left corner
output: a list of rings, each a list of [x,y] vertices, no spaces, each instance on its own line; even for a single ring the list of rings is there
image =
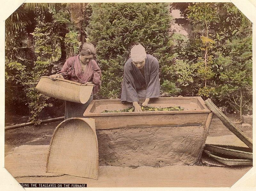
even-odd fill
[[[204,149],[213,153],[219,153],[219,154],[227,155],[234,158],[252,159],[251,149],[246,147],[205,144]]]

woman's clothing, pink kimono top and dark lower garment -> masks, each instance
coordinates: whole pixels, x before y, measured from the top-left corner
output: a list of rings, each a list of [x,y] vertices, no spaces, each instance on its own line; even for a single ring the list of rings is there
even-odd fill
[[[84,117],[84,111],[88,107],[89,103],[92,101],[93,94],[97,93],[100,89],[101,71],[99,66],[97,65],[95,60],[91,60],[87,64],[85,71],[83,72],[79,61],[79,55],[77,55],[68,58],[63,65],[61,71],[58,73],[61,74],[66,80],[76,81],[81,84],[92,81],[92,83],[95,84],[92,90],[92,95],[89,98],[88,102],[82,104],[66,101],[65,119],[72,117]]]

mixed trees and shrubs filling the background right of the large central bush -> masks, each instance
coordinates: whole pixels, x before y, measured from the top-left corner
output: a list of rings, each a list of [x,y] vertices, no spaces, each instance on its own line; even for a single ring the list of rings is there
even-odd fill
[[[183,15],[192,31],[180,58],[196,71],[183,92],[210,97],[242,119],[252,111],[252,23],[231,3],[188,3]]]

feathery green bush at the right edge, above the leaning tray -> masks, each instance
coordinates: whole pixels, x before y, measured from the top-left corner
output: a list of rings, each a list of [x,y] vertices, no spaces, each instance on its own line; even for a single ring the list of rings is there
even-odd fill
[[[244,109],[252,108],[252,35],[236,38],[227,47],[230,57],[221,59],[224,69],[220,73],[218,97],[239,111],[242,119]]]

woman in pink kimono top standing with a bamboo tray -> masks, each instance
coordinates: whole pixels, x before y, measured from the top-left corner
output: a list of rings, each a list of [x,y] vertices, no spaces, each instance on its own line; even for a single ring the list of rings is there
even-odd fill
[[[93,94],[100,89],[101,71],[95,60],[93,60],[95,54],[96,50],[93,44],[85,42],[79,47],[77,56],[68,58],[61,71],[50,76],[52,80],[62,78],[94,86],[88,102],[82,104],[66,101],[65,119],[83,117],[84,111],[93,99]]]

